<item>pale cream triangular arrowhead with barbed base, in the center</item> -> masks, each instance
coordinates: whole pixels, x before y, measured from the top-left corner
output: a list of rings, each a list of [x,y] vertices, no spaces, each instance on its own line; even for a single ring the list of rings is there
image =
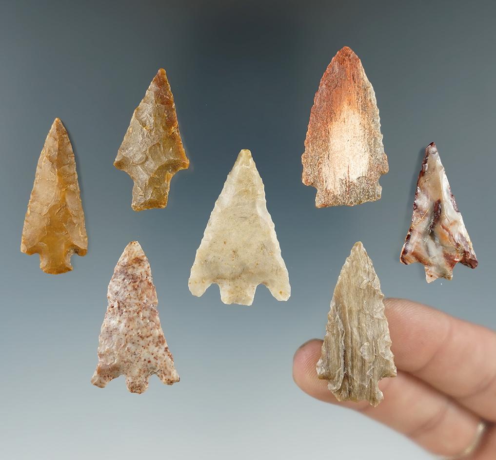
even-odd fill
[[[291,293],[263,182],[249,150],[242,150],[210,214],[196,251],[189,290],[201,296],[216,283],[224,303],[251,305],[262,283],[277,300]]]

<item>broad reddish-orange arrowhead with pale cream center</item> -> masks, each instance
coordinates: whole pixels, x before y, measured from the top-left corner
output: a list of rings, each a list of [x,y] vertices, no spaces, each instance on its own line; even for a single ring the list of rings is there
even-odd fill
[[[380,198],[388,172],[375,93],[362,62],[344,47],[325,70],[310,111],[302,156],[315,206],[354,206]]]

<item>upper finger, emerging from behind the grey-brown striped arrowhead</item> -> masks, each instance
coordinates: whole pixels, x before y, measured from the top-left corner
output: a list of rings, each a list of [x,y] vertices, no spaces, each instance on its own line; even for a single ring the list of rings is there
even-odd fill
[[[384,304],[396,367],[496,421],[496,334],[410,300]]]

